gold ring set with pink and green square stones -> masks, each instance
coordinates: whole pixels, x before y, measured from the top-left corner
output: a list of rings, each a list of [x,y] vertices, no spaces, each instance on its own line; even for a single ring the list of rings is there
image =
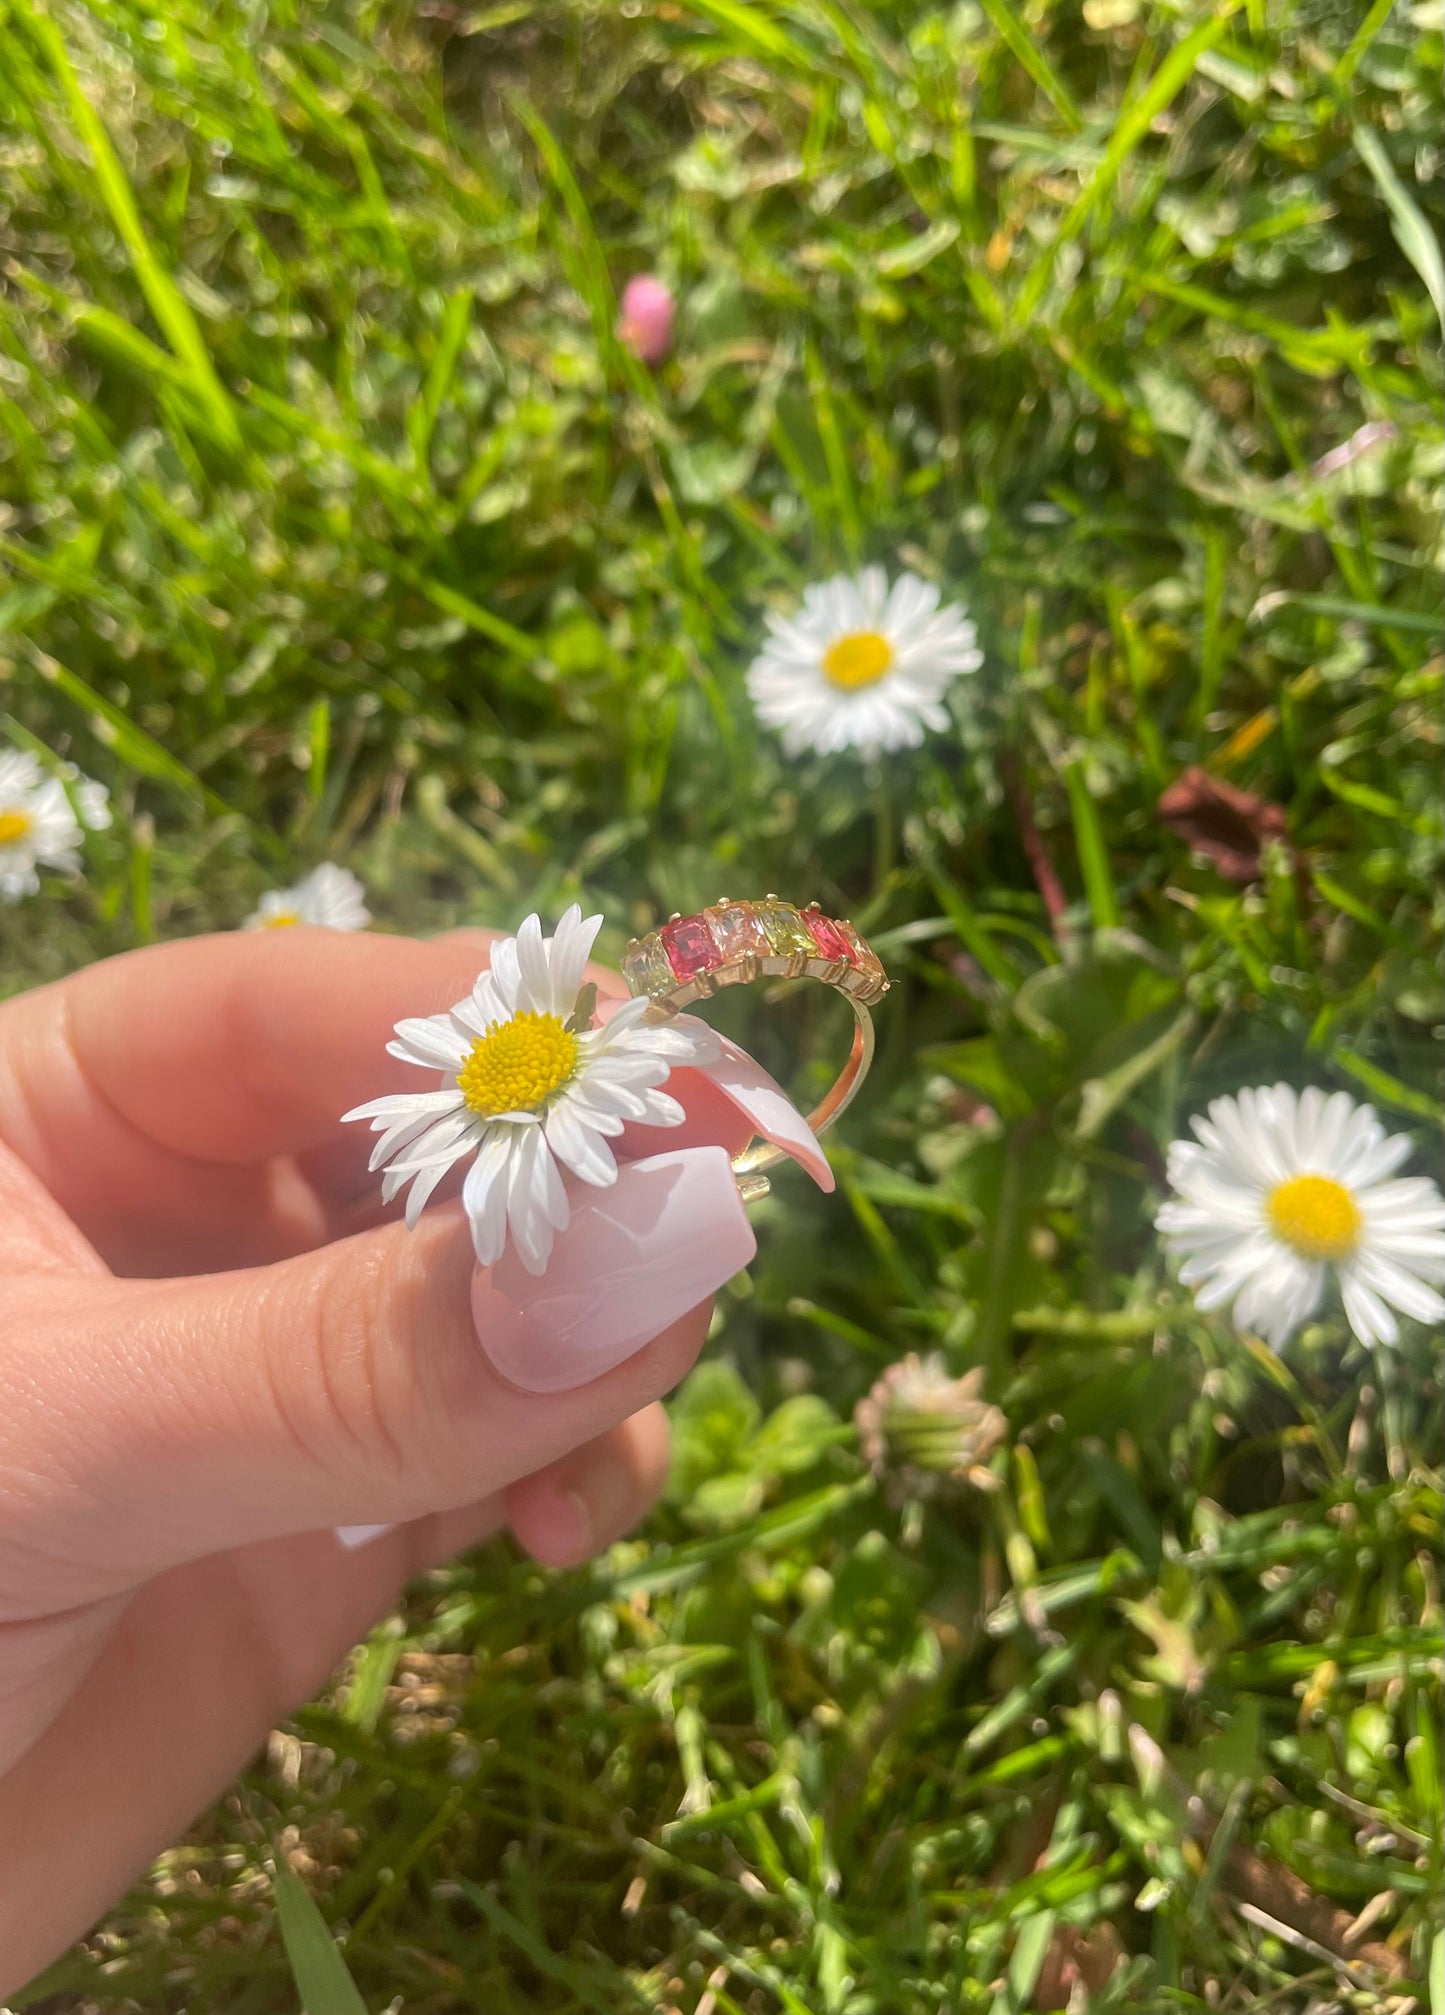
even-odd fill
[[[623,953],[623,979],[633,995],[647,995],[659,1014],[673,1016],[693,1001],[709,999],[719,987],[744,987],[754,979],[820,979],[842,993],[857,1028],[848,1060],[828,1094],[808,1114],[814,1134],[824,1132],[852,1102],[873,1062],[873,1016],[869,1010],[889,991],[873,945],[850,923],[824,917],[816,903],[796,909],[776,895],[762,903],[730,903],[724,897],[693,917],[673,917],[647,937],[635,937]],[[784,1151],[758,1140],[734,1155],[732,1171],[744,1199],[768,1193],[764,1169],[784,1161]]]

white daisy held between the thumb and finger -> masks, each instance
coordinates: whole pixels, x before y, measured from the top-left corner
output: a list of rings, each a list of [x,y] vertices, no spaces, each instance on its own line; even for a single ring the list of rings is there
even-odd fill
[[[389,1054],[441,1070],[441,1088],[373,1098],[345,1114],[381,1134],[371,1167],[387,1165],[383,1201],[411,1185],[413,1229],[447,1169],[474,1157],[462,1203],[482,1265],[502,1257],[510,1233],[528,1273],[542,1273],[554,1233],[570,1221],[562,1171],[609,1189],[617,1181],[609,1143],[629,1120],[681,1124],[683,1108],[661,1090],[669,1070],[721,1060],[701,1022],[645,1026],[647,997],[588,1026],[582,981],[601,925],[572,905],[556,937],[542,937],[528,917],[492,947],[488,971],[449,1014],[397,1022]]]

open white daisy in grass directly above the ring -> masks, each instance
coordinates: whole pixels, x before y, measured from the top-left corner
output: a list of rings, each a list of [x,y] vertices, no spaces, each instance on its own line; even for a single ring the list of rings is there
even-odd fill
[[[768,617],[768,631],[748,691],[788,756],[917,748],[925,727],[947,727],[951,681],[983,663],[961,609],[917,574],[889,586],[881,566],[808,588],[798,615]]]

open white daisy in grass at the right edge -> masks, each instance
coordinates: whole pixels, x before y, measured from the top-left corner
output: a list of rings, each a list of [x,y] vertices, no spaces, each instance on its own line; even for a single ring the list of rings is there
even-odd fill
[[[1169,1149],[1177,1201],[1155,1219],[1199,1308],[1231,1308],[1280,1350],[1330,1275],[1362,1344],[1393,1344],[1391,1310],[1437,1322],[1445,1300],[1445,1197],[1423,1177],[1391,1181],[1411,1140],[1387,1134],[1348,1092],[1288,1084],[1215,1098]]]

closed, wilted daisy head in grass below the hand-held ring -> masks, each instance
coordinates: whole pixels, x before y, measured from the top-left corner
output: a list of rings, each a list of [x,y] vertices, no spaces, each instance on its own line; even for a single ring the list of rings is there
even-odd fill
[[[983,1396],[983,1366],[951,1378],[939,1352],[909,1352],[891,1364],[852,1421],[859,1447],[893,1503],[937,1497],[953,1487],[992,1491],[988,1463],[1008,1435],[1002,1410]]]

